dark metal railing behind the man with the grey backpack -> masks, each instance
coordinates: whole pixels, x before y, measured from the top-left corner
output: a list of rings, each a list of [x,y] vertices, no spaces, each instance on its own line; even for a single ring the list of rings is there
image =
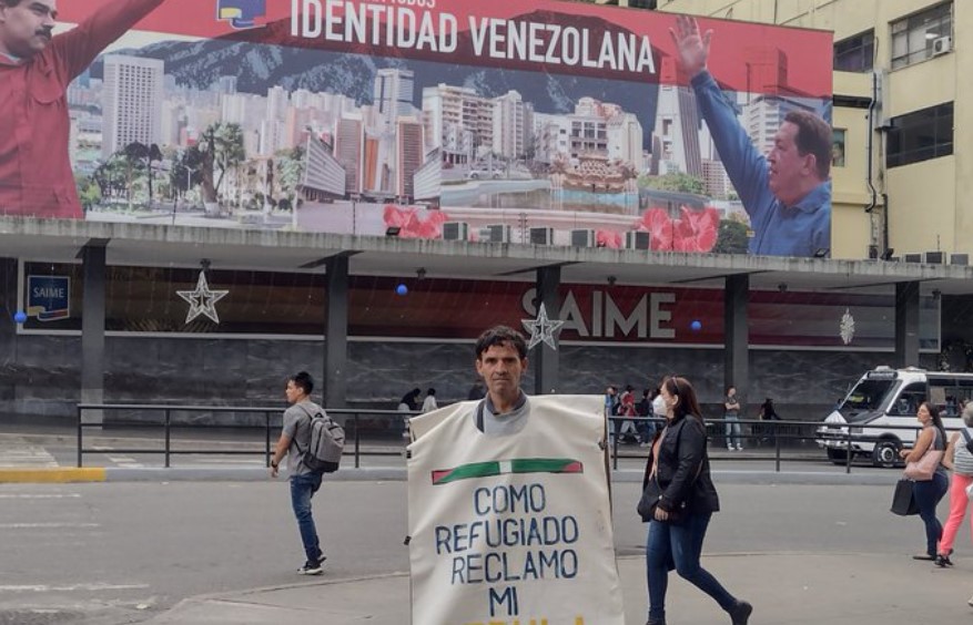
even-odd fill
[[[135,411],[141,413],[161,413],[161,420],[156,421],[141,421],[141,420],[130,420],[126,419],[124,421],[98,421],[98,422],[85,422],[84,413],[87,411],[100,411],[100,412],[118,412],[118,411]],[[122,447],[111,449],[112,453],[140,453],[140,454],[162,454],[164,460],[164,467],[168,469],[171,467],[171,459],[173,455],[257,455],[262,454],[264,458],[264,464],[270,467],[271,464],[271,453],[273,450],[273,445],[276,442],[277,436],[272,432],[278,431],[283,423],[283,411],[282,407],[250,407],[250,406],[181,406],[181,404],[159,404],[159,403],[79,403],[77,407],[78,420],[78,467],[83,467],[84,463],[84,454],[90,453],[104,453],[103,449],[89,449],[84,447],[84,431],[87,429],[102,429],[105,426],[110,427],[122,427],[128,429],[146,429],[146,430],[162,430],[162,442],[163,448],[139,448],[139,447]],[[244,423],[192,423],[192,422],[181,422],[173,421],[174,413],[244,413],[244,414],[262,414],[263,416],[263,424],[244,424]],[[403,431],[405,429],[405,420],[409,417],[418,414],[418,412],[401,412],[398,410],[362,410],[362,409],[328,409],[327,413],[330,417],[335,418],[337,421],[342,421],[342,417],[344,417],[344,428],[345,428],[345,452],[344,455],[351,455],[355,460],[355,469],[361,468],[362,465],[362,457],[363,455],[402,455],[402,451],[383,451],[383,450],[362,450],[362,422],[363,421],[377,421],[377,420],[392,420],[393,422],[399,426],[398,431]],[[231,430],[231,431],[241,431],[241,432],[253,432],[253,431],[262,431],[264,432],[263,437],[263,450],[254,451],[254,450],[227,450],[225,448],[200,448],[199,445],[193,447],[193,449],[173,449],[173,440],[172,432],[175,430],[203,430],[203,429],[219,429],[219,430]],[[348,450],[348,442],[352,443],[352,449]]]

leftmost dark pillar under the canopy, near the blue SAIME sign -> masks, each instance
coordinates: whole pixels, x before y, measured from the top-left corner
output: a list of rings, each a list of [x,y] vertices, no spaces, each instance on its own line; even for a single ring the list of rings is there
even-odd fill
[[[81,250],[84,300],[81,308],[81,401],[104,403],[104,281],[105,244]],[[103,423],[101,411],[84,412],[88,423]]]

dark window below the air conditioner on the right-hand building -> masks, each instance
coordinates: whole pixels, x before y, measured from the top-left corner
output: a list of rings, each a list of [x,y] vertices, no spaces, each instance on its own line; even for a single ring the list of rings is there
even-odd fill
[[[893,117],[885,166],[898,167],[953,153],[953,103]]]

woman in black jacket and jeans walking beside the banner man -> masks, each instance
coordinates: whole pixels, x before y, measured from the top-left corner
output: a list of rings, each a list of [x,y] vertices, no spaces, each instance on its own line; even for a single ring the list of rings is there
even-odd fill
[[[666,590],[672,568],[720,604],[733,625],[747,625],[753,607],[731,595],[699,563],[706,530],[720,501],[710,479],[706,426],[696,392],[685,378],[670,377],[662,381],[660,395],[667,421],[652,441],[639,502],[639,514],[649,523],[646,625],[666,625]]]

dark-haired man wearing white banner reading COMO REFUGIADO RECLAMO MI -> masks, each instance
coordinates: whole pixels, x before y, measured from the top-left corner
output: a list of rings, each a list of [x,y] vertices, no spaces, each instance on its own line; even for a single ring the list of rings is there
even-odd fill
[[[487,396],[411,422],[413,623],[625,623],[601,398],[528,398],[526,369],[524,337],[490,328]]]

